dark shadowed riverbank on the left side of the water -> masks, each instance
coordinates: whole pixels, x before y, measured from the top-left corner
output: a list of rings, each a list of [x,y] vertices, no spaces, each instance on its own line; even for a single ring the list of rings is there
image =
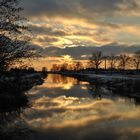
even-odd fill
[[[0,115],[29,106],[27,91],[44,82],[40,72],[12,71],[0,74]]]

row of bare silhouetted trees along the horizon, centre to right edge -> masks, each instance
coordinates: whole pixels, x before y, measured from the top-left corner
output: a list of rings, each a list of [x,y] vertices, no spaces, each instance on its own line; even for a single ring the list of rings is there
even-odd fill
[[[98,73],[100,69],[125,71],[128,68],[140,70],[140,51],[135,52],[133,55],[120,54],[104,56],[101,51],[93,52],[89,57],[86,64],[81,61],[74,61],[72,64],[64,62],[63,64],[54,64],[51,71],[84,71],[94,70]]]

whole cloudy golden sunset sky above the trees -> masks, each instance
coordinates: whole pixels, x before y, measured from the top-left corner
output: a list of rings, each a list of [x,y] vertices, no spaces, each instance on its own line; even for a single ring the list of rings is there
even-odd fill
[[[21,0],[42,65],[140,49],[140,0]]]

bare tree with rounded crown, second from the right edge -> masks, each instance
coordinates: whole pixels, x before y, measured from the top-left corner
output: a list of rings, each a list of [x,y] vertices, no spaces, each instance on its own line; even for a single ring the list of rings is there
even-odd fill
[[[126,69],[126,65],[128,64],[130,57],[126,54],[121,54],[119,56],[119,60],[120,60],[120,67],[121,69],[125,70]]]

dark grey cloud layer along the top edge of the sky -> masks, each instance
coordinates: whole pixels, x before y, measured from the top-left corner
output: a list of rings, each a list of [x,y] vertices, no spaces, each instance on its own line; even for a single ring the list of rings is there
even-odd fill
[[[91,18],[95,15],[112,15],[120,11],[136,11],[135,0],[23,0],[28,15]],[[90,13],[90,14],[89,14]]]

